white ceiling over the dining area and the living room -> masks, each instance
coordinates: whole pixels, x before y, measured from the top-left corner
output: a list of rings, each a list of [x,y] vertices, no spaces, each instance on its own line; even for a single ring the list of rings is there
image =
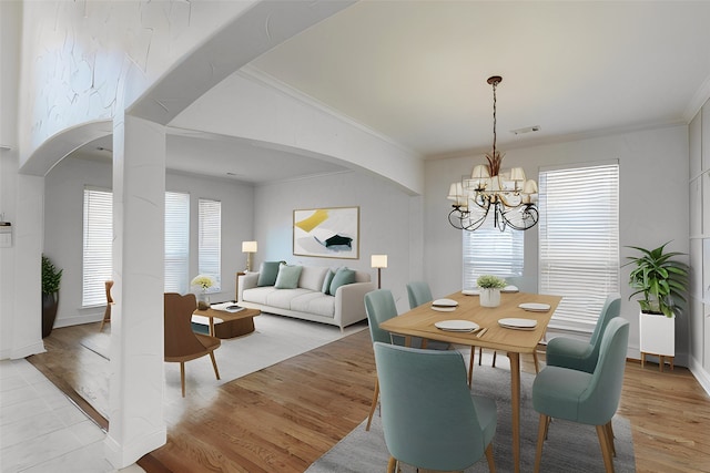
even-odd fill
[[[503,151],[688,123],[710,96],[708,24],[702,1],[361,1],[246,72],[437,158],[490,147],[490,75]],[[209,133],[172,131],[168,146],[171,168],[253,183],[344,169]]]

